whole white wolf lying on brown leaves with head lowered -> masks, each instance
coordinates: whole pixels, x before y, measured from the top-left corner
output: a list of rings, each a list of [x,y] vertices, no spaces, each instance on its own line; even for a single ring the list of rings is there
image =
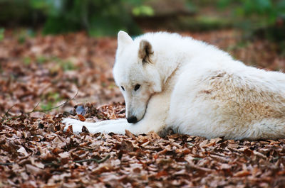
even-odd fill
[[[120,31],[113,75],[127,119],[63,119],[75,133],[86,126],[90,133],[285,137],[285,74],[248,67],[207,43],[161,32],[133,40]]]

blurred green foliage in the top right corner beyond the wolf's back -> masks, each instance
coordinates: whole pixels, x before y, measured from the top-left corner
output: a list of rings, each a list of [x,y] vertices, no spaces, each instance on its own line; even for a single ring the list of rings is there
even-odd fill
[[[285,43],[284,0],[219,0],[219,8],[231,7],[234,26],[246,35],[268,38],[278,42],[281,51]]]

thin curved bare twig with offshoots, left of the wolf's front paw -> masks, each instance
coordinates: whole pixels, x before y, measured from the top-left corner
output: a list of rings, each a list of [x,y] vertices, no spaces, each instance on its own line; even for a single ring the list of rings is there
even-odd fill
[[[36,107],[38,107],[38,104],[40,104],[40,103],[38,102],[38,104],[36,104],[36,106],[33,107],[33,110],[32,110],[32,111],[28,111],[28,112],[26,112],[26,113],[23,113],[23,114],[21,114],[20,116],[11,116],[10,118],[6,118],[6,117],[8,116],[9,111],[10,111],[14,106],[17,105],[17,104],[14,104],[13,106],[11,106],[10,109],[8,109],[8,111],[6,111],[6,113],[4,114],[4,116],[3,116],[2,119],[1,119],[1,123],[8,123],[9,121],[11,121],[11,120],[14,119],[14,118],[20,118],[20,117],[23,117],[23,116],[27,116],[28,114],[31,114],[31,113],[33,113],[33,112],[42,112],[42,113],[45,113],[46,111],[51,111],[51,110],[53,110],[53,109],[57,109],[57,108],[59,108],[59,107],[65,105],[65,104],[67,104],[69,101],[72,101],[74,98],[76,98],[78,92],[79,92],[79,89],[77,88],[76,94],[75,94],[71,99],[67,99],[65,102],[63,102],[63,104],[60,104],[60,105],[58,105],[58,106],[51,107],[50,109],[36,110]]]

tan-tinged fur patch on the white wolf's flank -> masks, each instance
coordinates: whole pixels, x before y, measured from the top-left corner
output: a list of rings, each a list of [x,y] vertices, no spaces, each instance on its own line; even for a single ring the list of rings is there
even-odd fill
[[[227,131],[239,129],[239,132],[264,119],[283,119],[285,128],[284,96],[284,93],[272,92],[266,87],[249,87],[239,77],[230,74],[211,77],[207,80],[207,89],[197,95],[211,101],[220,123],[229,124]]]

